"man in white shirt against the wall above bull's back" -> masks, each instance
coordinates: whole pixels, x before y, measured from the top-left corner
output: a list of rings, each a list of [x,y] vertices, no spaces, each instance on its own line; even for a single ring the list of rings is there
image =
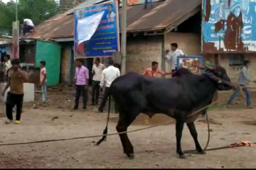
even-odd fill
[[[174,73],[177,70],[178,56],[184,56],[184,53],[182,50],[178,49],[177,43],[172,43],[171,51],[166,51],[166,59],[168,62],[171,61],[172,64],[172,73]]]

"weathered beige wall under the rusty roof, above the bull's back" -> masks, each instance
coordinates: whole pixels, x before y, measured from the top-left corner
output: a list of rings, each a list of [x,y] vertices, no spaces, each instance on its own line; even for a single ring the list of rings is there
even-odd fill
[[[153,61],[158,62],[161,68],[162,42],[163,35],[128,38],[126,72],[143,73]],[[201,50],[200,35],[197,34],[170,32],[166,35],[165,50],[170,49],[171,43],[178,43],[179,49],[191,56],[199,55]],[[171,71],[170,64],[166,62],[166,71]]]

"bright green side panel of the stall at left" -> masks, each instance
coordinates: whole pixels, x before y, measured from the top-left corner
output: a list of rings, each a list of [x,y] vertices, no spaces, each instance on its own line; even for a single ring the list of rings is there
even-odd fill
[[[61,46],[57,43],[36,42],[36,67],[39,62],[46,62],[47,86],[57,86],[60,81]]]

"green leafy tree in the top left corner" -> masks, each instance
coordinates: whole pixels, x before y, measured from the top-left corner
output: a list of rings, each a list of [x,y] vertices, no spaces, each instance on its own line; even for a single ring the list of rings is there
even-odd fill
[[[59,4],[56,0],[19,0],[18,20],[31,19],[35,25],[57,15]],[[12,34],[12,22],[16,19],[16,3],[14,0],[4,3],[0,0],[0,35]]]

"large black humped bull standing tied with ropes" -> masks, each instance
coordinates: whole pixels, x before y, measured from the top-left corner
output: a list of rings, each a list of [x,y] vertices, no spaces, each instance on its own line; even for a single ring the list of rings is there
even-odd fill
[[[218,68],[220,78],[230,82],[226,70],[223,67]],[[181,149],[184,123],[187,123],[197,152],[205,154],[199,144],[194,121],[200,114],[204,114],[206,109],[189,118],[188,116],[211,104],[217,90],[230,90],[231,88],[224,85],[223,89],[219,89],[217,82],[202,75],[195,75],[184,68],[178,69],[175,76],[175,78],[163,79],[128,73],[115,79],[111,85],[111,95],[119,107],[117,132],[126,132],[140,113],[147,114],[149,117],[162,113],[176,119],[177,154],[180,158],[185,158]],[[107,133],[107,128],[108,125],[104,134]],[[97,145],[105,138],[103,137]],[[133,158],[133,145],[128,135],[120,134],[120,140],[123,152]]]

